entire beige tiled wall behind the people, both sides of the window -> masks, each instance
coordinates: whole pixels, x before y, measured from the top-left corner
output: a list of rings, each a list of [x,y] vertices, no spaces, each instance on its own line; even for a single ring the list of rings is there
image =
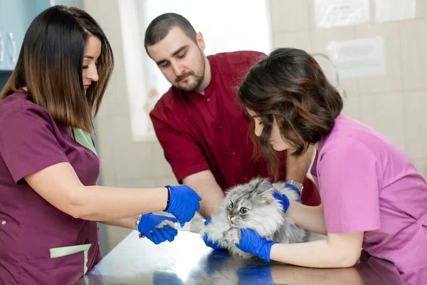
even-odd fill
[[[323,30],[315,29],[313,1],[270,0],[273,47],[325,53],[327,43],[332,40],[382,36],[386,75],[342,81],[347,92],[344,114],[391,138],[410,155],[418,170],[427,175],[427,1],[418,1],[416,19]],[[176,184],[159,142],[131,140],[119,1],[85,0],[84,4],[86,11],[104,28],[115,52],[115,70],[96,119],[102,183],[116,187]],[[320,63],[330,73],[330,66]],[[129,232],[100,227],[104,253]]]

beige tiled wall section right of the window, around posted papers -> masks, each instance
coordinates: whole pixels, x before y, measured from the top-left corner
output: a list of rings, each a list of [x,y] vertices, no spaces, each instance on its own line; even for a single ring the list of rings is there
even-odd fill
[[[381,36],[386,74],[342,80],[347,92],[344,114],[389,137],[427,175],[427,1],[416,1],[416,18],[369,24],[315,28],[314,0],[270,0],[273,48],[295,47],[327,53],[329,41]],[[325,71],[330,66],[320,60]],[[329,71],[329,72],[328,72]]]

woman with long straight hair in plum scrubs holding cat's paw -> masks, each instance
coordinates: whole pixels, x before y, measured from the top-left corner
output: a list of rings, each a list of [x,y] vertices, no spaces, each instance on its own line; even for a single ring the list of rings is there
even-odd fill
[[[84,11],[53,6],[28,28],[0,93],[0,284],[75,284],[102,258],[96,221],[159,244],[177,232],[157,224],[199,210],[183,185],[96,185],[92,114],[112,67],[110,43]],[[151,213],[159,210],[176,219]]]

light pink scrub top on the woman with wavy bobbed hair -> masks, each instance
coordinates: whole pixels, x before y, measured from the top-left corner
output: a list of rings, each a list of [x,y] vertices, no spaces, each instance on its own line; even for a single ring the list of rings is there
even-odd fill
[[[311,173],[327,232],[364,232],[363,249],[393,262],[405,284],[427,284],[427,183],[403,151],[339,115]]]

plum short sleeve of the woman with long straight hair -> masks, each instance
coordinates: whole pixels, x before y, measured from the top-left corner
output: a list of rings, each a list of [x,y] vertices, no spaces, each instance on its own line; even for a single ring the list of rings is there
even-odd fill
[[[53,119],[40,108],[24,108],[0,118],[0,152],[18,184],[26,175],[68,162],[53,135]]]

